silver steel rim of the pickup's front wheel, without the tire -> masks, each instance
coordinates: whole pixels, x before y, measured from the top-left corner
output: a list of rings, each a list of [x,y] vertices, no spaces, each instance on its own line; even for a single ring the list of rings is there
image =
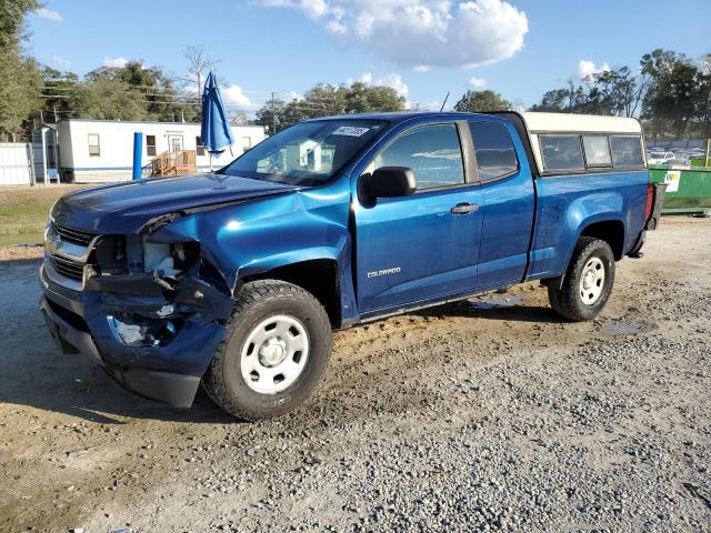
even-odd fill
[[[293,316],[277,314],[263,320],[242,345],[240,368],[252,391],[277,394],[303,372],[309,359],[309,335]]]

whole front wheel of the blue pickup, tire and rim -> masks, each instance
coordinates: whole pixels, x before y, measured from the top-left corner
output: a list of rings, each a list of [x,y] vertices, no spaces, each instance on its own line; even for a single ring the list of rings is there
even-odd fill
[[[254,281],[240,289],[228,335],[202,383],[234,416],[266,419],[302,403],[330,355],[331,325],[313,295],[282,281]]]

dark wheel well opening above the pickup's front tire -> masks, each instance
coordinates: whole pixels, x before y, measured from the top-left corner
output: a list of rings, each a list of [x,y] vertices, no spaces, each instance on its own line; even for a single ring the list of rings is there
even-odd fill
[[[300,263],[286,264],[242,280],[247,283],[256,280],[280,280],[293,283],[309,291],[321,302],[329,315],[331,325],[341,323],[341,292],[338,283],[338,265],[330,259],[316,259]]]

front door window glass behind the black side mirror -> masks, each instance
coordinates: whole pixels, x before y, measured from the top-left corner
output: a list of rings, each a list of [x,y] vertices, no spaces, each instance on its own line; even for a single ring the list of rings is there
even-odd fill
[[[414,128],[397,138],[373,161],[381,167],[412,169],[418,190],[464,183],[464,164],[455,124]]]

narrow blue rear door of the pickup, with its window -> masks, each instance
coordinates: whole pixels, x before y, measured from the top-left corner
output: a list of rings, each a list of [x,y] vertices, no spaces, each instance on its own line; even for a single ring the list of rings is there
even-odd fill
[[[508,123],[474,119],[469,129],[483,200],[477,286],[519,283],[525,273],[533,230],[531,170],[518,134]]]

